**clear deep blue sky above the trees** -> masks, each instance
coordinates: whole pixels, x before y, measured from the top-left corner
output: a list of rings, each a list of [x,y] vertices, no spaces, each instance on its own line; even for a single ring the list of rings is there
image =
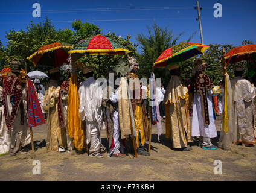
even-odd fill
[[[222,4],[222,18],[213,16],[215,3]],[[32,5],[41,5],[41,18],[34,18]],[[199,0],[202,7],[200,11],[205,44],[233,44],[241,45],[243,40],[252,40],[256,43],[256,1],[217,1]],[[168,0],[168,1],[1,1],[0,2],[0,40],[6,45],[5,31],[25,29],[33,21],[35,24],[45,20],[45,16],[53,22],[57,30],[71,28],[72,21],[80,19],[98,25],[103,34],[109,31],[118,36],[132,36],[131,41],[136,42],[137,34],[147,33],[147,26],[155,22],[160,27],[168,27],[174,34],[184,32],[180,41],[197,30],[191,42],[200,43],[199,24],[196,21],[196,0]],[[71,30],[73,30],[71,28]]]

